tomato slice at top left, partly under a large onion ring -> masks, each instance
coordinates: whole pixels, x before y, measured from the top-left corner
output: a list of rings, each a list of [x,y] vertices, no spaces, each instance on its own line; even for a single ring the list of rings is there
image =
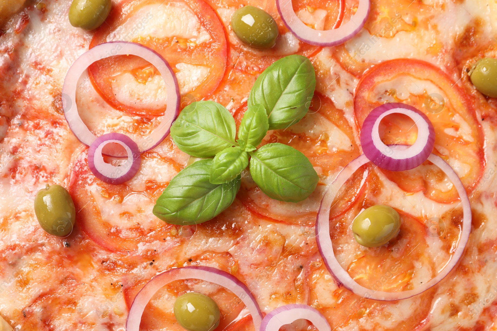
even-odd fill
[[[162,55],[178,78],[182,107],[210,95],[226,69],[223,24],[202,0],[125,0],[114,7],[89,48],[112,40],[145,45]],[[157,69],[135,56],[119,56],[88,67],[95,89],[121,111],[158,116],[166,86]],[[153,90],[154,98],[147,91]],[[137,100],[139,102],[137,102]]]

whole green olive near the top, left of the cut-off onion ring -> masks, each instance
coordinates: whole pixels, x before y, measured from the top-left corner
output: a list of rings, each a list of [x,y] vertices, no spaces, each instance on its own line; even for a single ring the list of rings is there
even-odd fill
[[[254,48],[271,48],[278,37],[276,21],[264,10],[244,6],[231,16],[231,27],[238,38]]]

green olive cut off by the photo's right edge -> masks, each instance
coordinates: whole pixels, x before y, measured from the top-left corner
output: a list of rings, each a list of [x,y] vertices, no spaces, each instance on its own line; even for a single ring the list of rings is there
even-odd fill
[[[481,59],[470,71],[470,78],[476,89],[483,94],[497,97],[497,60]]]

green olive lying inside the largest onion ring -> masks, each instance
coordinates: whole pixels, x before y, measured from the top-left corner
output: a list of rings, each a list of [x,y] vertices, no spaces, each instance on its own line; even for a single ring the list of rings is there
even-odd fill
[[[401,217],[392,207],[381,204],[361,212],[352,222],[355,240],[366,247],[385,245],[397,237],[401,227]]]

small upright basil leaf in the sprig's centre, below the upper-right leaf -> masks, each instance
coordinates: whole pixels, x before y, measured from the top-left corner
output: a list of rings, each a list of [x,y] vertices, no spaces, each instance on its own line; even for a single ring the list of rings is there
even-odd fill
[[[262,105],[253,105],[247,108],[240,128],[238,138],[246,144],[257,146],[269,130],[266,109]],[[244,146],[245,147],[245,146]]]

